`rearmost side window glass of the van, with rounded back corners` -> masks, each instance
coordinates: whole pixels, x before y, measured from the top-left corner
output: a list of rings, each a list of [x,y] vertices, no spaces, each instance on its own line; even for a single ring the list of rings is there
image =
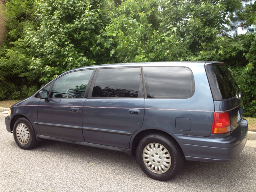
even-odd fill
[[[186,67],[144,67],[147,98],[184,99],[194,94],[192,71]]]

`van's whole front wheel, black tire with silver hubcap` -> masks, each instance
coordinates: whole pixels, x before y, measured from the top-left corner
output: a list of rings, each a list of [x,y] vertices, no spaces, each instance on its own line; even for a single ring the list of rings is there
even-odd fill
[[[36,139],[36,132],[31,123],[23,117],[18,118],[15,122],[13,136],[16,144],[22,149],[29,150],[35,148],[39,143]]]

